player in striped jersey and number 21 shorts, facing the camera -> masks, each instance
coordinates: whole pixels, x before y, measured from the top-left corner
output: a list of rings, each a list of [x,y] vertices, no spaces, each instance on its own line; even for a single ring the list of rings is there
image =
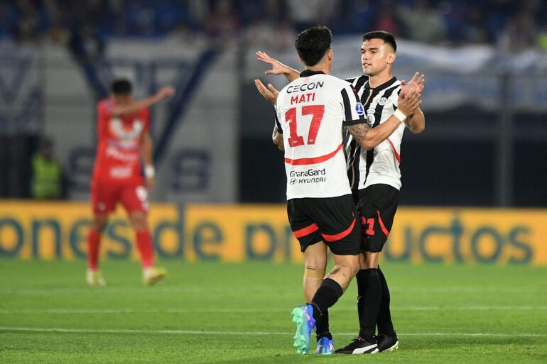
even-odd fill
[[[423,75],[418,72],[408,84],[393,77],[391,65],[396,57],[395,52],[396,42],[393,35],[383,31],[365,34],[361,49],[364,75],[347,79],[359,94],[367,114],[367,122],[372,128],[382,126],[396,113],[401,94],[404,95],[411,89],[421,92],[424,87]],[[266,53],[258,52],[256,55],[259,60],[272,66],[272,70],[266,71],[266,74],[284,74],[289,80],[299,76],[298,71],[274,60]],[[256,87],[266,99],[272,103],[275,101],[277,91],[271,85],[266,88],[261,82],[256,82]],[[404,125],[381,143],[359,145],[349,133],[345,138],[348,177],[359,204],[363,231],[360,269],[357,273],[360,329],[359,336],[337,353],[363,353],[363,348],[368,347],[371,341],[377,341],[379,351],[392,351],[399,346],[389,311],[389,289],[379,269],[378,254],[389,236],[397,208],[401,187],[401,138],[405,126],[413,133],[424,130],[425,118],[419,108],[408,114]],[[372,337],[376,325],[379,335]]]

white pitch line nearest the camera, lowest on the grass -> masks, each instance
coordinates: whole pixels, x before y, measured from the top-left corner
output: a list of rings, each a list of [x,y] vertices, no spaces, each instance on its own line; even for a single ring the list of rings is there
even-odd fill
[[[136,330],[136,329],[65,329],[65,328],[37,328],[37,327],[9,327],[0,326],[0,331],[22,332],[52,332],[52,333],[164,333],[178,335],[242,335],[242,336],[269,336],[293,335],[291,332],[279,331],[205,331],[205,330]],[[354,336],[355,333],[336,333],[340,336]],[[462,333],[462,332],[413,332],[399,333],[399,336],[484,336],[484,337],[547,337],[547,333]]]

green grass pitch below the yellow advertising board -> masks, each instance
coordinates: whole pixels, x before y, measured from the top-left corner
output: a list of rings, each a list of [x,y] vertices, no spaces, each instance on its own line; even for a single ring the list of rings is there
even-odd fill
[[[291,309],[302,267],[0,260],[0,363],[547,363],[547,268],[385,263],[401,346],[377,355],[297,355]],[[337,347],[357,333],[356,285],[331,310]],[[313,338],[315,344],[315,338]]]

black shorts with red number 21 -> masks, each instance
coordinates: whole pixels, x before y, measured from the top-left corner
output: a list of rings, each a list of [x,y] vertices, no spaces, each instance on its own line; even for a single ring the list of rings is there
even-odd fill
[[[361,221],[361,250],[379,252],[393,226],[399,204],[399,189],[389,184],[372,184],[359,189],[357,210]]]

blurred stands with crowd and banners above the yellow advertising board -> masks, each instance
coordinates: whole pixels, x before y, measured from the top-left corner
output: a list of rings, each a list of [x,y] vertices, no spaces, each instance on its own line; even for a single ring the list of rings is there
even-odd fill
[[[86,200],[95,104],[115,77],[154,106],[159,202],[283,202],[273,109],[254,89],[264,50],[300,67],[296,34],[335,35],[333,75],[361,74],[361,35],[399,41],[394,73],[426,75],[426,131],[402,146],[401,204],[547,206],[547,3],[366,0],[18,0],[0,3],[0,198],[31,199],[33,157],[54,198]]]

